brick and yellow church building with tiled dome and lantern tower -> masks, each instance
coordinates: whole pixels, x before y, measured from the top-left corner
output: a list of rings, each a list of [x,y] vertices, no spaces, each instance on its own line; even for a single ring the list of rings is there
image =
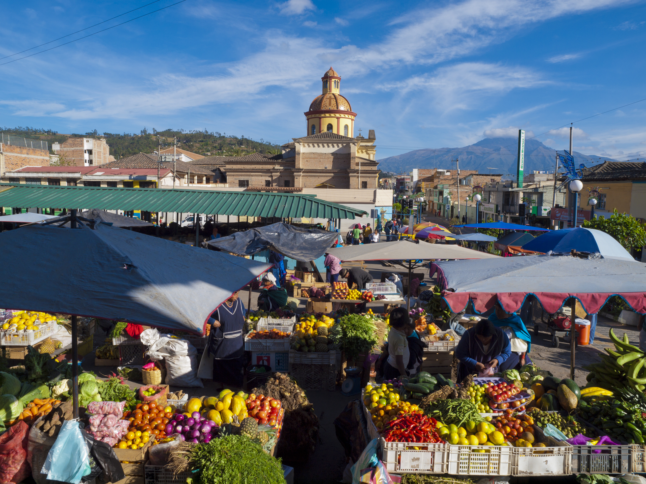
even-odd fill
[[[219,168],[229,187],[297,191],[298,188],[377,188],[375,131],[355,136],[355,118],[340,94],[333,68],[321,77],[322,94],[309,105],[306,134],[282,146],[282,154],[210,156],[189,163]]]

